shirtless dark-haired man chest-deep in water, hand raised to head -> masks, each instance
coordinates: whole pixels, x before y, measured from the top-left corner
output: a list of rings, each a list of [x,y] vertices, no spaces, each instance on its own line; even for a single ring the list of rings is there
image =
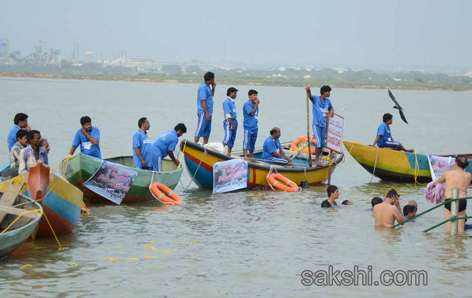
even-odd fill
[[[405,221],[405,217],[401,213],[398,193],[394,189],[387,193],[384,202],[374,206],[373,212],[376,226],[392,227],[395,220],[398,224]]]

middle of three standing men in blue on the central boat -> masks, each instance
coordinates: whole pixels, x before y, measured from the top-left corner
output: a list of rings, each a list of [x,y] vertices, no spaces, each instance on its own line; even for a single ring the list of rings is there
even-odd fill
[[[225,137],[223,138],[223,146],[228,146],[228,155],[231,155],[231,149],[235,146],[237,120],[236,120],[236,93],[235,87],[228,88],[226,95],[228,96],[223,101],[223,113],[225,120],[223,120],[223,129],[225,130]]]

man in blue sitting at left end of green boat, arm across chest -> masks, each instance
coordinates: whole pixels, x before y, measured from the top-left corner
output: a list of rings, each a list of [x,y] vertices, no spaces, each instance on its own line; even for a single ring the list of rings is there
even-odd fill
[[[88,116],[80,118],[80,125],[82,127],[74,136],[69,154],[74,154],[76,148],[80,146],[80,153],[101,159],[100,130],[97,127],[92,127],[92,120]]]

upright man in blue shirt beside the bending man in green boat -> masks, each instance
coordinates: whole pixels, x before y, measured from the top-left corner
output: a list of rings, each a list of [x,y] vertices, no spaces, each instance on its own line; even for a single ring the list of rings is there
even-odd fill
[[[148,137],[151,127],[146,117],[138,120],[138,131],[133,135],[133,163],[135,168],[151,170],[153,162],[153,144]]]

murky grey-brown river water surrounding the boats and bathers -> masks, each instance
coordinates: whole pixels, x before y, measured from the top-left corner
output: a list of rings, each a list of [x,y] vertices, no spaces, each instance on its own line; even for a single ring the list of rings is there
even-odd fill
[[[218,79],[218,78],[217,78]],[[218,80],[217,80],[218,83]],[[221,103],[228,85],[218,85],[210,142],[223,138]],[[259,92],[261,146],[268,131],[279,126],[281,140],[306,133],[305,90],[294,87],[236,86],[242,145],[242,102],[247,91]],[[140,117],[150,120],[150,138],[187,125],[184,138],[193,139],[198,84],[89,80],[0,79],[1,134],[6,135],[17,112],[51,145],[50,164],[59,164],[88,115],[100,128],[103,157],[131,154],[131,139]],[[317,88],[313,89],[317,94]],[[346,107],[344,139],[373,143],[382,115],[393,114],[392,134],[406,148],[422,153],[472,153],[471,92],[393,90],[409,125],[394,110],[387,90],[336,89],[336,111]],[[345,153],[347,153],[345,151]],[[7,159],[7,146],[0,146]],[[340,198],[353,206],[320,209],[325,185],[301,193],[247,191],[212,195],[191,185],[177,193],[183,207],[159,203],[134,206],[89,206],[78,230],[53,239],[26,242],[0,260],[1,297],[470,297],[472,240],[468,232],[451,238],[439,227],[442,210],[429,213],[398,229],[376,230],[370,200],[395,188],[403,206],[418,202],[419,212],[431,205],[422,186],[383,182],[352,157],[339,165],[332,183]],[[185,171],[182,184],[190,177]],[[469,188],[471,191],[471,188]],[[471,192],[470,192],[471,194]],[[30,264],[32,267],[20,269]],[[304,270],[359,270],[372,273],[373,282],[385,270],[425,270],[421,286],[304,286]],[[372,267],[369,267],[372,266]],[[369,269],[371,268],[371,269]],[[401,280],[401,279],[400,279]],[[362,284],[362,280],[360,281]]]

